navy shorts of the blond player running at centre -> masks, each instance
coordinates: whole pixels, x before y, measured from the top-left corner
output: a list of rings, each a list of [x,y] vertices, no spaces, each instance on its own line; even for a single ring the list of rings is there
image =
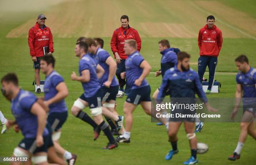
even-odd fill
[[[150,92],[151,89],[149,85],[137,89],[131,89],[125,101],[133,103],[134,105],[138,105],[142,101],[151,101]]]

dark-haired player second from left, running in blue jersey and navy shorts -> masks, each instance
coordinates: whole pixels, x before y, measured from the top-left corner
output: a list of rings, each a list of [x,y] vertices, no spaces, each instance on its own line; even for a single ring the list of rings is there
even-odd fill
[[[70,153],[59,144],[61,128],[67,120],[67,105],[65,97],[69,92],[63,77],[54,70],[55,59],[53,56],[46,55],[40,61],[41,71],[46,75],[44,84],[44,104],[49,106],[47,122],[53,131],[52,140],[56,152],[63,155],[69,164],[74,164],[77,155]]]

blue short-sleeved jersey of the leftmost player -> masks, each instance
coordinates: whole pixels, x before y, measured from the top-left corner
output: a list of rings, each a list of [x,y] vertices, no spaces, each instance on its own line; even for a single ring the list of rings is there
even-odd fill
[[[38,120],[37,116],[31,113],[31,107],[36,101],[37,97],[25,90],[20,90],[17,97],[12,99],[12,113],[25,138],[36,138]],[[48,130],[44,128],[43,136],[48,134]]]

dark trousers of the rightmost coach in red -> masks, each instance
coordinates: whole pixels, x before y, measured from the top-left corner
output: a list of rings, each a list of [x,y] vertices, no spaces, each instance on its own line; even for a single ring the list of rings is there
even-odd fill
[[[208,66],[208,69],[209,69],[208,90],[212,90],[217,62],[218,62],[218,57],[201,55],[198,58],[198,75],[201,83],[202,83],[202,78],[205,74],[206,66]]]

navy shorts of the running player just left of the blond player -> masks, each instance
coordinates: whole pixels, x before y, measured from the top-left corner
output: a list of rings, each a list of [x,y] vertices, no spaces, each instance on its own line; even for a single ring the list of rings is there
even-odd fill
[[[109,102],[110,100],[115,100],[118,94],[119,85],[113,87],[102,86],[102,102]]]

